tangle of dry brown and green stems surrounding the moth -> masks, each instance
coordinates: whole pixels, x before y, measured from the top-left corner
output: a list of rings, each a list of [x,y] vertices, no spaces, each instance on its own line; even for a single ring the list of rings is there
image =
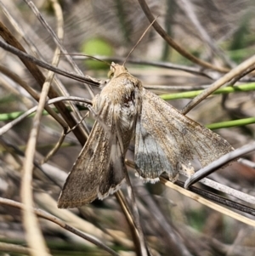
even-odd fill
[[[88,110],[61,100],[42,116],[43,100],[69,95],[92,100],[100,88],[19,59],[6,45],[82,76],[79,68],[98,84],[107,71],[69,54],[96,40],[99,47],[82,54],[122,63],[149,26],[150,14],[159,15],[156,22],[165,34],[151,27],[127,60],[128,70],[178,109],[198,90],[228,86],[188,116],[216,129],[235,149],[254,149],[255,4],[148,0],[146,10],[143,0],[59,2],[34,1],[39,13],[32,1],[1,2],[0,255],[254,255],[254,151],[188,191],[184,177],[174,185],[164,177],[155,185],[143,184],[130,167],[130,145],[128,174],[141,230],[125,185],[104,201],[57,208],[61,187],[87,139],[84,131],[94,121],[88,117],[86,129],[80,125],[67,134]],[[34,116],[20,118],[34,106]]]

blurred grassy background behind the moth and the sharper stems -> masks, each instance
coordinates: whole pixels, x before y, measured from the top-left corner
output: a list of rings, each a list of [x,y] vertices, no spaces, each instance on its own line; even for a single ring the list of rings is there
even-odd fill
[[[34,1],[43,18],[56,31],[58,14],[53,3],[54,1]],[[155,17],[158,15],[157,22],[175,42],[190,54],[212,65],[231,69],[255,52],[254,1],[147,0],[146,3],[152,14]],[[150,25],[139,2],[135,0],[63,0],[59,1],[59,6],[64,19],[63,45],[84,74],[101,81],[108,79],[109,65],[72,54],[96,56],[109,63],[113,60],[122,64]],[[8,27],[28,54],[51,63],[56,47],[54,39],[25,1],[2,1],[0,15],[3,25]],[[23,30],[23,35],[14,26],[15,22]],[[65,57],[65,54],[60,55],[59,68],[74,72]],[[0,58],[0,121],[3,127],[20,115],[20,111],[27,111],[37,105],[37,101],[21,86],[20,81],[38,94],[41,88],[14,54],[1,48]],[[144,88],[156,94],[177,94],[207,88],[223,76],[221,72],[195,65],[178,54],[153,27],[134,49],[126,66],[133,76],[143,82]],[[42,72],[47,74],[46,70]],[[19,79],[15,80],[14,75]],[[253,91],[209,97],[187,116],[202,125],[254,117],[252,76],[254,75],[246,76],[236,84],[251,84]],[[59,75],[56,77],[71,96],[92,99],[81,82]],[[52,86],[59,95],[62,94],[56,84],[53,83]],[[94,94],[100,91],[100,88],[92,89]],[[182,109],[189,101],[190,99],[183,97],[169,103]],[[86,110],[81,111],[82,116],[86,113]],[[17,202],[20,202],[24,152],[32,122],[31,117],[26,118],[0,137],[0,196]],[[92,128],[93,122],[92,118],[86,119],[88,129]],[[230,128],[222,126],[214,131],[235,148],[239,148],[254,140],[255,125],[234,125]],[[61,132],[62,128],[54,118],[49,115],[42,117],[35,156],[35,162],[42,168],[34,168],[32,181],[35,207],[98,237],[121,255],[136,255],[132,230],[115,196],[79,209],[57,208],[57,199],[66,174],[82,149],[74,134],[68,134],[54,156],[41,165],[40,162],[58,142]],[[133,144],[127,152],[130,160],[133,160],[132,150]],[[245,158],[254,162],[254,153]],[[255,255],[255,230],[252,226],[207,208],[160,182],[155,185],[143,184],[134,176],[132,168],[128,172],[151,255]],[[255,194],[255,170],[252,164],[246,166],[235,162],[212,174],[212,179],[247,195]],[[197,186],[211,191],[206,186]],[[234,197],[212,191],[239,202]],[[123,193],[127,195],[125,185]],[[251,204],[241,203],[253,208]],[[241,214],[254,219],[246,213]],[[39,223],[52,255],[108,255],[99,247],[46,219],[39,219]],[[20,210],[5,204],[0,204],[0,241],[9,245],[27,245]],[[185,253],[185,250],[190,254]],[[0,244],[0,255],[23,254],[27,253],[5,250],[3,244]]]

